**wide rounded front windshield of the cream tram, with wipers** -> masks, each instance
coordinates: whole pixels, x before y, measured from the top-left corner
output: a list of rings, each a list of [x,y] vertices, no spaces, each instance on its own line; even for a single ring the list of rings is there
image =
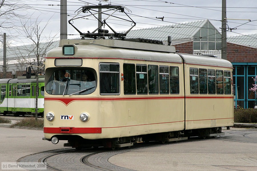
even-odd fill
[[[89,69],[55,70],[49,77],[45,90],[53,95],[85,95],[96,89],[95,74]]]

